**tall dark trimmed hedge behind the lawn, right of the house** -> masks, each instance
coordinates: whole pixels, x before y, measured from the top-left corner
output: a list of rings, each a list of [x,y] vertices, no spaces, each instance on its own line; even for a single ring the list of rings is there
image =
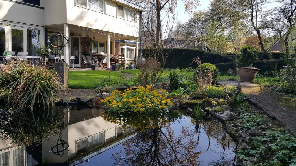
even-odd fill
[[[142,56],[148,57],[150,49],[143,49]],[[224,57],[219,54],[204,52],[200,50],[191,50],[191,49],[164,49],[164,54],[169,54],[166,60],[165,68],[181,68],[185,69],[188,67],[196,68],[197,64],[192,63],[192,59],[195,57],[199,57],[202,59],[202,63],[210,63],[210,64],[219,64],[219,63],[227,63],[233,62],[234,58]],[[161,62],[161,60],[160,60]]]

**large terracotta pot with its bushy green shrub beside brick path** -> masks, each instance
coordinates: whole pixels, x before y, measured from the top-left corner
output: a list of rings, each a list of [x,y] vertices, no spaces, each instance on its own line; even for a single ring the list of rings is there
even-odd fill
[[[251,45],[245,45],[241,49],[241,56],[237,59],[239,79],[242,82],[252,82],[260,69],[252,65],[258,59],[258,51]]]

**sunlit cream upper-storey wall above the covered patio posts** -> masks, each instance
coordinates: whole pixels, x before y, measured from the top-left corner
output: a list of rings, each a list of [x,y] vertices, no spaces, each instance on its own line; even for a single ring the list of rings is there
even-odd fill
[[[102,13],[75,6],[75,0],[67,0],[67,24],[139,37],[139,21],[116,17],[115,2],[105,0],[105,11]]]

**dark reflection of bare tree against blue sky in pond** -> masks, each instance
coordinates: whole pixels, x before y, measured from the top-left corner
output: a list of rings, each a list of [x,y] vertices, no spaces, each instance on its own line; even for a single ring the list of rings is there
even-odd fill
[[[178,137],[170,125],[149,128],[123,143],[124,149],[112,155],[114,165],[200,165],[194,135],[188,126]]]

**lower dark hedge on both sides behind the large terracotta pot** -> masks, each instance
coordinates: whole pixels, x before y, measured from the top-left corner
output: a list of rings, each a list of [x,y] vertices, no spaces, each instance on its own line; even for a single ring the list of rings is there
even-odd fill
[[[256,61],[253,64],[253,67],[260,69],[258,74],[272,76],[279,70],[283,69],[287,63],[283,60],[272,60],[272,61]],[[222,64],[215,64],[218,68],[221,75],[226,74],[226,71],[230,69],[235,69],[235,63],[222,63]]]

